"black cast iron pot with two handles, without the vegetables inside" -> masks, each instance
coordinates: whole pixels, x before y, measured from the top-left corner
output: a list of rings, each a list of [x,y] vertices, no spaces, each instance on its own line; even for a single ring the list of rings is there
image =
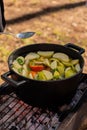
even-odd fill
[[[76,75],[63,80],[38,81],[20,76],[12,70],[11,65],[14,59],[20,55],[25,56],[29,52],[37,52],[38,50],[63,52],[73,59],[79,59],[81,71]],[[26,103],[33,103],[34,105],[62,104],[73,96],[78,87],[84,66],[84,59],[81,56],[84,51],[83,48],[71,43],[64,46],[51,43],[24,46],[15,50],[9,56],[8,65],[10,71],[1,75],[1,77],[6,83],[12,86],[16,95]]]

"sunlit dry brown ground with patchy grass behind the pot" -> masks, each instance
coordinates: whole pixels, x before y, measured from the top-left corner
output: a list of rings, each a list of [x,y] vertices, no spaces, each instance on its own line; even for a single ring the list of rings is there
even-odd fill
[[[0,75],[8,71],[10,53],[21,46],[40,42],[65,45],[74,43],[85,49],[87,73],[87,4],[84,0],[4,0],[5,31],[35,31],[32,38],[20,40],[0,35]],[[0,83],[2,83],[0,78]]]

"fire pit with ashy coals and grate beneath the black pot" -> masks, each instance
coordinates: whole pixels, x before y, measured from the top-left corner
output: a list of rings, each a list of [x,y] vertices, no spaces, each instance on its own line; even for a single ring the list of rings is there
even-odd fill
[[[57,130],[61,128],[63,120],[77,111],[85,99],[87,75],[82,75],[74,97],[68,103],[56,108],[31,106],[21,101],[11,91],[6,91],[8,94],[5,95],[4,91],[0,97],[0,130]]]

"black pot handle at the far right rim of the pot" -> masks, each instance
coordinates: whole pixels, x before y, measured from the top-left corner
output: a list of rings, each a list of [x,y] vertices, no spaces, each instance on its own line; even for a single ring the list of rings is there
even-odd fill
[[[66,45],[64,45],[65,47],[68,47],[70,49],[74,49],[76,51],[78,51],[79,54],[83,54],[85,52],[85,49],[75,45],[75,44],[72,44],[72,43],[67,43]]]

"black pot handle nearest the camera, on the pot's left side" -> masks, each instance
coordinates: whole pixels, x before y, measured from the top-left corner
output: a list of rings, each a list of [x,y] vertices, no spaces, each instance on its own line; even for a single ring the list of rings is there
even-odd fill
[[[8,84],[14,86],[15,88],[20,86],[20,85],[23,85],[24,83],[26,83],[25,80],[22,80],[22,81],[15,81],[13,80],[12,78],[10,78],[9,76],[12,74],[11,71],[8,71],[6,73],[4,73],[3,75],[1,75],[1,78],[6,81]]]

